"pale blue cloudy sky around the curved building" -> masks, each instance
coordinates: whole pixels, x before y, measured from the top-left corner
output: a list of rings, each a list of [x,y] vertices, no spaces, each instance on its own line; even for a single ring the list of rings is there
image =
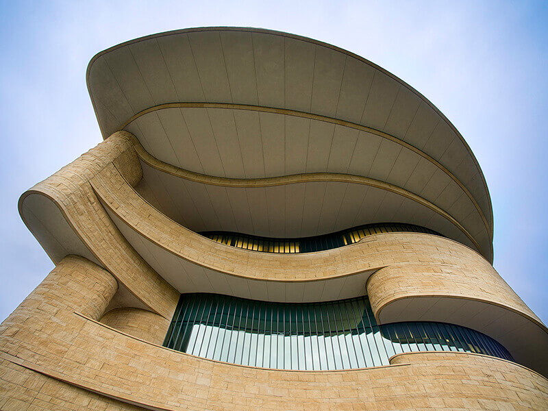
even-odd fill
[[[397,75],[456,126],[493,201],[495,269],[548,323],[548,2],[0,0],[0,320],[53,269],[18,197],[102,139],[93,55],[173,29],[328,42]]]

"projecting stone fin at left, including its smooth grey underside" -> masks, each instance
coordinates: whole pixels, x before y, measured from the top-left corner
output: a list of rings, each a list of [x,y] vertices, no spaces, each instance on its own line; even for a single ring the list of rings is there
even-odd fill
[[[127,243],[89,183],[105,167],[112,166],[123,173],[124,184],[136,184],[142,173],[132,145],[132,138],[124,132],[101,142],[27,190],[19,200],[19,213],[46,250],[57,250],[49,252],[59,256],[55,263],[67,253],[82,253],[108,269],[145,306],[169,319],[179,294]],[[51,205],[47,213],[40,214],[43,205],[29,201],[34,197]]]

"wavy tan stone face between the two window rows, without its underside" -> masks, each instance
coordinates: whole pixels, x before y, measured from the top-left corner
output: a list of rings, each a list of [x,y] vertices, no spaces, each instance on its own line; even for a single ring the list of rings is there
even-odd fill
[[[355,245],[316,253],[255,253],[219,244],[178,225],[125,184],[114,166],[106,166],[97,173],[91,184],[112,212],[142,236],[176,256],[214,271],[251,279],[306,281],[386,266],[401,271],[401,264],[406,264],[401,281],[415,284],[416,290],[492,301],[540,323],[491,264],[475,251],[447,238],[419,233],[386,233],[368,236]],[[369,282],[374,309],[401,292],[394,286],[390,289],[382,286],[385,273],[379,271]],[[432,282],[432,276],[427,273],[435,274],[436,281]],[[445,284],[444,275],[450,278]]]

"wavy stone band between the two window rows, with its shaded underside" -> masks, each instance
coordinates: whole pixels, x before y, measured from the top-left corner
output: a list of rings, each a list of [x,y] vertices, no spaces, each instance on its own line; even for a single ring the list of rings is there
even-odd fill
[[[139,247],[147,242],[150,261],[172,258],[170,266],[182,266],[186,282],[177,279],[181,269],[157,268],[180,292],[216,292],[210,286],[192,286],[204,273],[227,282],[227,289],[232,290],[242,280],[249,284],[257,280],[267,284],[301,282],[305,287],[323,282],[323,288],[331,288],[336,280],[358,278],[367,280],[366,289],[380,323],[438,321],[470,327],[498,340],[522,364],[548,373],[548,355],[543,349],[548,345],[545,325],[493,266],[458,242],[429,234],[386,233],[316,253],[258,253],[219,244],[175,223],[142,199],[114,166],[105,167],[91,184],[136,249],[143,253],[145,249]],[[360,277],[360,273],[374,274]],[[344,292],[345,285],[342,287],[339,295]],[[249,298],[284,301],[282,294],[272,292]],[[408,305],[410,301],[413,306]],[[519,338],[520,329],[531,336],[525,345]]]

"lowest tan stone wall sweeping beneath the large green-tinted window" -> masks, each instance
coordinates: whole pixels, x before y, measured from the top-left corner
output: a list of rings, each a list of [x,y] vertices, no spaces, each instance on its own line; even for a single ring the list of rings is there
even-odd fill
[[[83,275],[93,273],[91,279]],[[64,277],[71,281],[60,281]],[[111,295],[112,284],[110,275],[95,264],[68,258],[3,323],[3,409],[48,409],[49,403],[57,407],[50,409],[60,410],[75,409],[79,403],[82,409],[132,409],[97,393],[167,410],[548,407],[547,379],[512,362],[477,354],[409,353],[395,356],[393,365],[373,369],[279,371],[178,353],[75,312],[75,301],[89,310],[86,301],[104,296],[104,290]],[[75,290],[82,298],[71,300]],[[96,394],[84,395],[75,386]]]

